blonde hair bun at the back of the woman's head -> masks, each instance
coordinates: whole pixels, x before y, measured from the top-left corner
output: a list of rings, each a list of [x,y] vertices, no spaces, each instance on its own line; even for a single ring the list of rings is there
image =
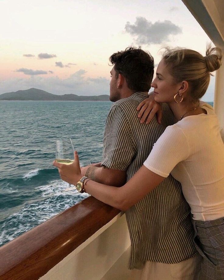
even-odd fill
[[[208,72],[213,72],[218,70],[222,65],[222,50],[218,47],[211,48],[208,47],[206,50],[205,63],[208,69]]]

